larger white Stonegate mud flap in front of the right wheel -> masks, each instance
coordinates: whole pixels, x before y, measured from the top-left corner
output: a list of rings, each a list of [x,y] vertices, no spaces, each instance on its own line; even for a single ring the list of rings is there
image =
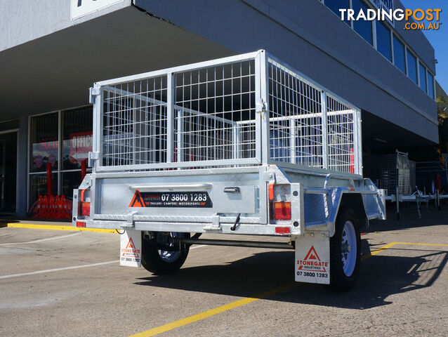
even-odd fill
[[[313,234],[313,235],[312,235]],[[330,237],[328,232],[296,237],[296,282],[330,284]]]

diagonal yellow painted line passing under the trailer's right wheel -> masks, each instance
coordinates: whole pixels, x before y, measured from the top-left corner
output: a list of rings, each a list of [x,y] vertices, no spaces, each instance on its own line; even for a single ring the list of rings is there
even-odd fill
[[[369,253],[369,255],[363,256],[362,260],[365,260],[365,259],[367,259],[367,258],[369,258],[371,256],[374,256],[374,255],[380,253],[381,251],[390,248],[391,246],[393,246],[395,244],[396,244],[396,242],[392,242],[390,244],[386,244],[386,246],[382,246],[380,249],[377,249],[376,251],[372,251],[371,253]],[[143,332],[139,332],[139,333],[136,333],[136,334],[131,335],[129,337],[150,337],[150,336],[155,336],[155,335],[158,335],[159,333],[170,331],[170,330],[179,328],[180,326],[184,326],[184,325],[187,325],[187,324],[190,324],[190,323],[193,323],[193,322],[197,322],[197,321],[200,321],[201,319],[204,319],[204,318],[207,318],[207,317],[218,315],[221,312],[225,312],[227,310],[240,307],[241,305],[249,304],[249,303],[255,302],[256,300],[261,300],[262,298],[266,298],[266,297],[272,296],[275,293],[280,293],[282,291],[286,291],[286,290],[292,289],[292,288],[294,288],[294,286],[297,286],[297,284],[293,283],[293,284],[287,284],[286,286],[280,286],[279,288],[276,288],[276,289],[273,289],[273,290],[270,290],[270,291],[266,291],[264,293],[260,293],[260,294],[258,294],[256,296],[243,298],[242,300],[237,300],[237,301],[232,302],[232,303],[221,305],[218,308],[207,310],[207,311],[204,311],[204,312],[202,312],[200,314],[193,315],[193,316],[190,316],[190,317],[185,317],[183,319],[179,319],[178,321],[171,322],[171,323],[168,323],[168,324],[164,324],[162,326],[157,326],[156,328],[153,328],[153,329],[150,329],[150,330],[147,330],[147,331],[143,331]]]

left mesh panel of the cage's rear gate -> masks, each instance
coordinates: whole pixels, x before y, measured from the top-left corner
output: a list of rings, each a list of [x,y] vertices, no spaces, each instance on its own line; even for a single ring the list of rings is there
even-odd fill
[[[166,75],[104,90],[103,165],[166,161]]]

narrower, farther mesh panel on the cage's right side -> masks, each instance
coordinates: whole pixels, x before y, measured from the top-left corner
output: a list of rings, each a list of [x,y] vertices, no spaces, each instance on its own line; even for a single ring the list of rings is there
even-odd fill
[[[355,173],[354,112],[327,95],[327,114],[329,169]]]

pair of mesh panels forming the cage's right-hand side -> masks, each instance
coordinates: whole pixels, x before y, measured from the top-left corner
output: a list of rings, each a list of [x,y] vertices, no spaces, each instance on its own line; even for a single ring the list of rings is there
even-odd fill
[[[327,132],[322,89],[274,60],[268,61],[270,158],[355,173],[355,110],[327,94]],[[327,167],[324,139],[327,136]]]

